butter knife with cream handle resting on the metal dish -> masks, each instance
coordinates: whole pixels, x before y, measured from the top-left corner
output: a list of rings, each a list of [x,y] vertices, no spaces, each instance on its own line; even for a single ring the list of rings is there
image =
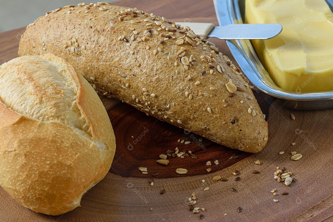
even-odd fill
[[[203,37],[219,39],[270,39],[282,31],[282,25],[269,24],[230,24],[215,26],[212,23],[175,22],[183,27],[188,26],[193,32]]]

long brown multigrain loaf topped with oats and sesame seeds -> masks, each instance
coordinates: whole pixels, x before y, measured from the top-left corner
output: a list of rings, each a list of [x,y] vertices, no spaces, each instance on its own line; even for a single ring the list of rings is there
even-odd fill
[[[212,141],[247,152],[268,139],[248,80],[209,41],[164,17],[99,3],[40,17],[19,56],[54,53],[100,94]]]

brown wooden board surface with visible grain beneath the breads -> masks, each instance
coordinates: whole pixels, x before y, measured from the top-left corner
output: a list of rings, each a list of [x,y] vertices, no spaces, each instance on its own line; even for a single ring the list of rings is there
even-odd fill
[[[217,25],[212,1],[125,0],[115,4],[137,7],[174,21]],[[16,29],[0,33],[0,64],[17,57],[23,32]],[[224,41],[209,40],[233,59]],[[117,144],[106,177],[83,196],[81,207],[59,216],[37,214],[0,188],[0,221],[198,221],[200,214],[204,215],[202,221],[333,221],[333,110],[292,111],[272,97],[256,90],[254,93],[269,123],[268,143],[256,154],[229,149],[205,138],[199,141],[198,135],[146,116],[120,101],[101,97]],[[180,143],[178,139],[191,143]],[[292,142],[296,144],[292,146]],[[167,166],[156,162],[160,154],[176,147],[191,150],[198,158],[169,158]],[[285,153],[280,155],[280,151]],[[293,161],[291,151],[303,157]],[[256,160],[261,165],[254,164]],[[207,161],[212,165],[207,166]],[[149,173],[142,174],[140,166],[147,167]],[[274,180],[276,167],[291,171],[296,181],[285,186]],[[178,175],[176,168],[186,168],[188,173]],[[211,168],[209,173],[207,168]],[[237,176],[232,174],[235,170],[239,171]],[[253,170],[260,173],[253,174]],[[216,175],[228,181],[212,181]],[[150,179],[154,179],[153,186]],[[209,190],[204,191],[206,187]],[[232,192],[232,187],[238,192]],[[274,188],[276,197],[270,193]],[[160,194],[161,190],[165,193]],[[204,212],[194,214],[188,210],[192,192],[197,197],[195,207],[205,208]]]

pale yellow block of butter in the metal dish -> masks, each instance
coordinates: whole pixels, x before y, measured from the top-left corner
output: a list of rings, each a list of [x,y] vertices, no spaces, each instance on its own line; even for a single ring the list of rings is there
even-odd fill
[[[246,0],[245,22],[283,26],[272,39],[251,40],[278,87],[333,90],[333,13],[325,0]]]

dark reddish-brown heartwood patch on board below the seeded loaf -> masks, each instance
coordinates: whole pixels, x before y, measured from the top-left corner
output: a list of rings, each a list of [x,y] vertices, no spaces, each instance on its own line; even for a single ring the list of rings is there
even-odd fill
[[[119,104],[108,113],[115,130],[117,147],[122,147],[119,152],[116,152],[114,159],[117,161],[112,164],[110,172],[120,176],[143,177],[138,170],[139,166],[149,169],[150,173],[147,176],[152,177],[153,172],[159,173],[154,178],[193,176],[197,175],[198,171],[201,172],[200,174],[207,174],[207,168],[211,168],[210,173],[212,173],[250,155],[250,153],[229,149],[205,138],[202,138],[200,142],[200,136],[147,116],[127,104]],[[178,139],[191,143],[180,143]],[[176,147],[180,151],[190,150],[198,158],[193,159],[191,155],[185,158],[168,157],[168,165],[156,162],[160,159],[160,154],[166,154],[168,149],[175,151]],[[231,156],[238,156],[238,158],[230,159]],[[214,164],[216,159],[221,162],[219,165]],[[208,160],[211,160],[211,166],[206,165]],[[127,167],[124,167],[125,165]],[[186,168],[188,173],[177,175],[175,172],[177,168]]]

